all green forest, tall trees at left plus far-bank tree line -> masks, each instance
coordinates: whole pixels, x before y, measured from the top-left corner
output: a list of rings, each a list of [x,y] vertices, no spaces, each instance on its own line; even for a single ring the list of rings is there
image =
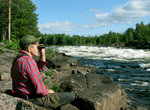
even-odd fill
[[[135,29],[128,28],[123,33],[110,30],[100,36],[80,36],[40,33],[38,29],[38,14],[36,5],[31,0],[11,0],[11,41],[18,44],[24,35],[42,37],[45,45],[112,45],[125,44],[130,41],[150,41],[150,24],[137,23]],[[0,42],[8,39],[8,0],[0,0]],[[9,44],[10,45],[10,44]]]

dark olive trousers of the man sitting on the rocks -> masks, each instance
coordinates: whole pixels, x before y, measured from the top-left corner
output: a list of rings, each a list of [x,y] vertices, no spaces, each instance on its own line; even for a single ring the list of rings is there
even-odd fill
[[[64,104],[70,103],[75,99],[75,95],[70,92],[58,92],[47,94],[41,98],[29,99],[32,103],[45,107],[49,110],[56,109]]]

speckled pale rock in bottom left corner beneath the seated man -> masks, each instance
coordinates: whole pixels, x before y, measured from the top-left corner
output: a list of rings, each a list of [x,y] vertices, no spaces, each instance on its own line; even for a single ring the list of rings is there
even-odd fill
[[[21,98],[0,93],[0,110],[46,110]]]

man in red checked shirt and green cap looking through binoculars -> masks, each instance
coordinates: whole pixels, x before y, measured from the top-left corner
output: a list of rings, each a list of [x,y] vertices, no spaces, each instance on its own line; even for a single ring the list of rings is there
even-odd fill
[[[13,61],[11,77],[13,92],[15,96],[46,108],[57,108],[63,104],[74,100],[73,93],[54,93],[49,90],[42,80],[40,71],[46,65],[45,48],[38,49],[38,39],[31,35],[26,35],[20,40],[21,51]],[[34,57],[40,58],[35,62]]]

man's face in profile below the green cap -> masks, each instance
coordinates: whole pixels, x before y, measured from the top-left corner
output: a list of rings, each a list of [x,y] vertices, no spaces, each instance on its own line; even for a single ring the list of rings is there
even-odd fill
[[[38,42],[36,42],[35,44],[31,44],[30,45],[30,54],[32,55],[32,57],[36,57],[39,55],[39,51],[38,51],[38,48],[37,46],[39,45]]]

